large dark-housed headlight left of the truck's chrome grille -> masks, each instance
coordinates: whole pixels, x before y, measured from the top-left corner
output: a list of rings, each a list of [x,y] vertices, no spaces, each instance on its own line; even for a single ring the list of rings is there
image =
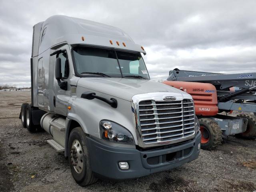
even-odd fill
[[[104,140],[120,144],[135,144],[132,134],[123,126],[112,121],[100,122],[100,136]]]

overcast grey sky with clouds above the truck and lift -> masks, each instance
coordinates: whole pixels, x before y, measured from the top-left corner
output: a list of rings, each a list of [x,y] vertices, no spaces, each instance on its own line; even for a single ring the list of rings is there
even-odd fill
[[[0,0],[0,84],[30,86],[33,25],[62,14],[116,26],[147,52],[153,80],[169,70],[256,72],[256,1]]]

